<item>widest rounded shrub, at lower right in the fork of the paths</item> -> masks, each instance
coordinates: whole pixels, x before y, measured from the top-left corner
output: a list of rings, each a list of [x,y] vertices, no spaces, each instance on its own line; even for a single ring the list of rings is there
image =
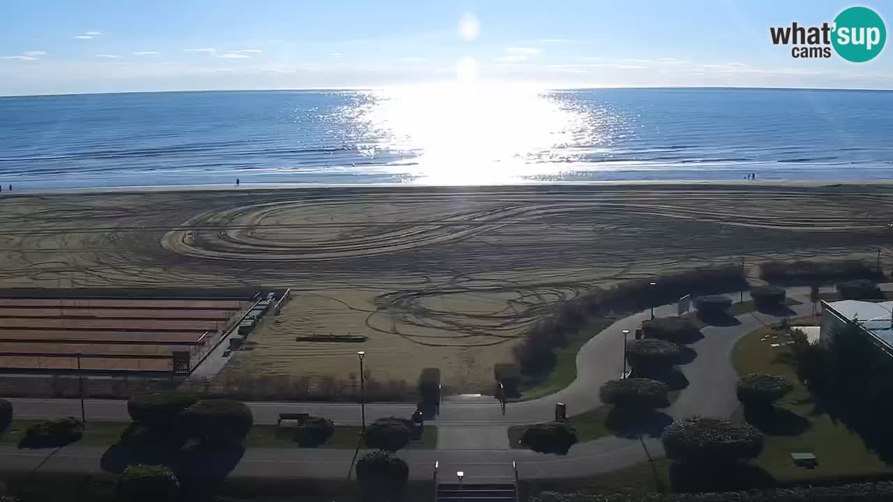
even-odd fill
[[[706,416],[672,423],[661,440],[668,458],[695,464],[732,463],[763,451],[763,434],[754,426]]]

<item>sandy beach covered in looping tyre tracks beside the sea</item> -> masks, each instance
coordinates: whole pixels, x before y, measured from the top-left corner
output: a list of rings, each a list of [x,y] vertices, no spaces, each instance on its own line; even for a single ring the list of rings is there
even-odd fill
[[[441,369],[488,390],[556,301],[619,280],[776,258],[889,264],[893,188],[603,184],[4,193],[0,287],[287,287],[221,376]],[[363,344],[296,336],[360,334]],[[353,374],[352,374],[353,373]]]

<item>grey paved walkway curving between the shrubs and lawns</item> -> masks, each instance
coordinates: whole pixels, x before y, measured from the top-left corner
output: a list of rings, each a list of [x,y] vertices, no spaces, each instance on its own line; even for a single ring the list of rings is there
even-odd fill
[[[893,289],[893,283],[881,285]],[[823,292],[833,289],[822,289]],[[739,300],[739,294],[730,294]],[[790,288],[788,297],[801,302],[791,306],[791,316],[811,313],[808,288]],[[747,299],[747,293],[745,293]],[[655,308],[655,315],[674,315],[676,305]],[[577,356],[577,379],[571,385],[547,397],[509,403],[505,416],[495,399],[445,400],[441,414],[430,421],[438,426],[438,449],[404,450],[399,453],[410,464],[410,475],[415,479],[430,478],[435,461],[441,473],[463,470],[467,480],[494,481],[513,476],[512,462],[516,462],[522,478],[561,478],[603,473],[647,460],[647,454],[662,456],[660,440],[647,438],[625,439],[605,437],[574,445],[567,456],[549,456],[525,449],[509,449],[506,429],[511,424],[547,422],[554,417],[555,403],[568,406],[568,414],[579,414],[601,406],[598,389],[622,372],[622,330],[634,331],[650,315],[644,311],[625,317],[590,339]],[[689,386],[680,392],[666,414],[679,419],[694,414],[729,416],[738,406],[735,381],[738,378],[730,362],[736,341],[764,324],[779,322],[781,317],[747,313],[736,317],[738,324],[707,326],[701,330],[703,339],[689,344],[697,357],[680,366]],[[11,399],[17,418],[46,418],[67,414],[79,415],[76,399]],[[354,403],[249,403],[255,423],[275,423],[283,412],[319,414],[340,424],[358,424],[359,406]],[[366,406],[367,423],[389,415],[408,416],[415,409],[412,404],[373,403]],[[129,422],[124,401],[90,399],[87,402],[88,420],[97,422]],[[647,448],[647,452],[646,452]],[[42,470],[76,472],[99,471],[99,458],[106,448],[78,444],[63,448],[41,467]],[[29,469],[46,459],[48,451],[16,450],[12,445],[0,445],[4,464],[16,469]],[[321,477],[338,478],[347,475],[353,451],[339,449],[252,448],[246,450],[239,464],[230,474],[252,477]]]

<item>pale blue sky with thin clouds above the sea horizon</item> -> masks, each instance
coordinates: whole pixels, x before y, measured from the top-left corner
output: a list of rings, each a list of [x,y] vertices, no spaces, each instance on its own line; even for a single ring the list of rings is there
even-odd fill
[[[863,4],[881,16],[893,4]],[[795,59],[769,28],[833,21],[809,0],[6,0],[0,95],[387,88],[893,88],[868,63]],[[893,19],[893,18],[885,18]],[[889,27],[889,26],[888,26]]]

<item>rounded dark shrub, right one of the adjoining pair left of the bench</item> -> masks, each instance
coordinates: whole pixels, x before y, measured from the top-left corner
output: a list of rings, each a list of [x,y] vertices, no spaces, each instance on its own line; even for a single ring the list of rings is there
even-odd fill
[[[204,399],[180,412],[179,423],[189,438],[201,439],[205,445],[224,446],[245,439],[254,415],[245,403]]]

